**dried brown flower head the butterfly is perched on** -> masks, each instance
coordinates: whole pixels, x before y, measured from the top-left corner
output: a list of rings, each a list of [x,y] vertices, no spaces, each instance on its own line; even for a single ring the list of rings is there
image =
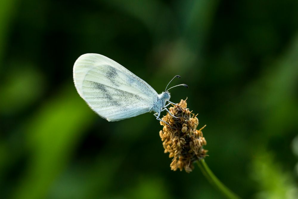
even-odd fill
[[[194,169],[193,162],[206,156],[207,150],[203,146],[207,144],[203,137],[202,127],[197,130],[199,124],[198,118],[187,108],[186,100],[169,108],[170,115],[167,113],[162,120],[170,124],[169,127],[160,121],[163,129],[159,132],[162,138],[164,153],[169,153],[169,157],[173,158],[170,167],[172,170],[182,169],[189,173]]]

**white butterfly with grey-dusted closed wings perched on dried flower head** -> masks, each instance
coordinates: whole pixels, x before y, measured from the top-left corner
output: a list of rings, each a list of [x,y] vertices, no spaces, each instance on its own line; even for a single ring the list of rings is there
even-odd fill
[[[173,87],[168,90],[166,87],[164,92],[157,94],[144,80],[100,54],[81,55],[75,61],[73,77],[79,95],[108,121],[119,121],[151,111],[155,112],[157,120],[162,121],[160,113],[164,110],[169,112],[167,106],[174,104],[169,101],[168,92]],[[179,75],[176,77],[180,78]],[[186,84],[176,86],[187,87]],[[166,105],[167,102],[169,104]]]

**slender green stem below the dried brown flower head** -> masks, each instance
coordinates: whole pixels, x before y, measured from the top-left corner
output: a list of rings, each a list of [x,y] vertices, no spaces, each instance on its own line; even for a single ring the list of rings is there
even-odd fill
[[[239,199],[240,197],[232,192],[228,187],[226,187],[218,178],[213,174],[213,172],[209,169],[205,160],[199,160],[198,166],[201,169],[203,175],[207,178],[210,184],[212,184],[215,188],[217,188],[222,195],[226,198],[230,199]]]

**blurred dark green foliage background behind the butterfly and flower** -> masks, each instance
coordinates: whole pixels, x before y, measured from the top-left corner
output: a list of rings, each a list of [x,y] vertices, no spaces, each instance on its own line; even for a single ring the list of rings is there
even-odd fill
[[[170,170],[152,114],[108,122],[72,67],[103,54],[199,113],[243,198],[298,198],[298,1],[0,1],[0,198],[221,198]],[[296,137],[296,138],[295,138]]]

